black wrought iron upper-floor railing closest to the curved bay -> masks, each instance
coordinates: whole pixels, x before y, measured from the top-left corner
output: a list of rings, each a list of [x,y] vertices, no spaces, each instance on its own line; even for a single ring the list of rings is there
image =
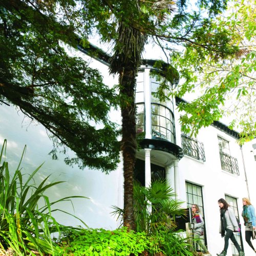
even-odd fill
[[[202,142],[182,134],[181,145],[185,155],[205,162],[204,144]]]

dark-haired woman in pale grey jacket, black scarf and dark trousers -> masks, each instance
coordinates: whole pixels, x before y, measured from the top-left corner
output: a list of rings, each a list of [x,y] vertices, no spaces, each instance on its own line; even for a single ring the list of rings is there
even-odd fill
[[[241,247],[233,234],[233,231],[239,231],[236,216],[234,216],[232,208],[229,207],[229,204],[223,198],[219,199],[218,203],[221,213],[220,233],[221,237],[224,237],[225,244],[223,251],[220,254],[217,253],[217,255],[225,256],[227,254],[228,241],[230,239],[239,251],[239,256],[242,256],[244,255],[244,252],[241,250]]]

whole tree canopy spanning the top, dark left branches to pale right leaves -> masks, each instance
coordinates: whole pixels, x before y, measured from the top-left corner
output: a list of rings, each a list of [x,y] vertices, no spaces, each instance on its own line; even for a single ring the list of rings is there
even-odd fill
[[[224,17],[226,0],[1,0],[0,99],[46,127],[54,157],[58,148],[64,146],[66,152],[67,146],[76,153],[66,158],[68,164],[108,172],[119,157],[119,131],[108,113],[122,100],[103,84],[99,71],[70,56],[63,45],[86,48],[88,37],[97,33],[101,41],[114,42],[116,72],[125,63],[120,52],[115,55],[117,49],[128,49],[130,58],[138,47],[141,52],[143,44],[154,41],[163,49],[165,61],[185,79],[172,93],[183,96],[198,85],[204,90],[195,101],[179,105],[187,113],[182,119],[184,131],[188,123],[197,132],[221,118],[225,110],[220,105],[225,105],[228,93],[236,92],[237,99],[244,96],[247,111],[245,119],[240,118],[242,136],[252,138],[255,13],[252,2],[234,3],[236,11]],[[137,46],[128,41],[125,50],[118,40],[120,24],[142,34],[143,40]],[[140,56],[137,60],[138,66]],[[96,129],[95,123],[103,124],[102,129]]]

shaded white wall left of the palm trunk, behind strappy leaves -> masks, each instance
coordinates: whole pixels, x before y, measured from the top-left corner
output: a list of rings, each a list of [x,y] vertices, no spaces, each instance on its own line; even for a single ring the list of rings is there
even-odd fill
[[[91,60],[91,67],[97,67],[104,74],[104,82],[113,86],[116,79],[108,76],[108,69],[102,63]],[[111,120],[120,123],[120,114],[113,112]],[[49,189],[47,195],[50,201],[68,196],[85,196],[90,199],[74,199],[70,202],[58,204],[57,208],[68,211],[82,219],[89,227],[115,229],[120,223],[110,212],[112,205],[123,207],[123,176],[122,165],[117,170],[105,175],[100,170],[81,170],[66,165],[62,158],[52,160],[48,153],[52,150],[52,142],[47,136],[45,128],[40,124],[31,123],[22,112],[17,112],[12,106],[0,105],[0,145],[7,139],[7,161],[10,169],[14,170],[25,144],[26,157],[22,163],[23,173],[32,173],[41,163],[44,165],[38,172],[39,183],[48,175],[50,181],[66,181]],[[70,152],[69,154],[73,154]],[[55,214],[58,222],[66,225],[81,225],[73,217],[59,213]]]

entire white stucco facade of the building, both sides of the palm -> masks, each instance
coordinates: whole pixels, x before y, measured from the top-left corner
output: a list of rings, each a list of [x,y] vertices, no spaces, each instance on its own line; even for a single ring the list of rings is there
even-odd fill
[[[97,67],[102,71],[105,83],[110,86],[117,83],[117,79],[113,79],[108,75],[108,67],[99,61],[92,59],[91,66]],[[150,95],[151,90],[147,88],[149,72],[147,69],[145,70],[147,75],[144,79],[144,92]],[[145,108],[148,108],[148,105],[151,104],[150,96],[144,97],[144,102]],[[175,101],[173,103],[175,139],[176,144],[182,148],[179,125],[181,113],[178,113]],[[150,111],[150,109],[147,110]],[[148,111],[145,111],[145,113],[148,113]],[[120,123],[121,116],[118,111],[111,113],[110,118]],[[145,127],[147,127],[145,128],[145,138],[151,139],[151,115],[146,114],[145,120],[148,120],[145,122]],[[218,136],[228,141],[230,155],[236,158],[238,162],[239,175],[230,174],[222,169]],[[23,173],[32,173],[37,166],[44,162],[38,172],[38,182],[50,174],[49,180],[51,181],[66,181],[49,190],[50,201],[72,195],[90,198],[74,199],[72,201],[73,205],[70,202],[66,202],[58,205],[58,208],[74,214],[92,228],[115,229],[119,227],[120,222],[111,215],[111,212],[113,211],[113,205],[120,208],[123,207],[122,160],[118,168],[109,175],[101,173],[100,170],[80,170],[77,166],[72,168],[62,161],[61,156],[58,160],[52,160],[48,155],[52,150],[52,144],[44,127],[40,124],[30,124],[30,120],[24,119],[24,115],[15,110],[13,106],[3,104],[0,105],[0,144],[3,144],[4,139],[7,139],[7,161],[10,164],[10,168],[15,167],[26,144],[26,157],[22,163],[24,167]],[[148,172],[150,162],[165,168],[166,179],[175,188],[177,198],[184,201],[184,207],[187,207],[188,203],[186,183],[201,187],[207,245],[212,255],[215,255],[224,246],[224,239],[219,234],[220,213],[218,199],[225,198],[225,196],[236,199],[241,222],[242,198],[250,197],[252,204],[256,206],[254,152],[251,142],[243,145],[241,151],[237,140],[216,126],[201,129],[197,140],[203,142],[205,161],[195,159],[186,154],[181,159],[178,159],[176,156],[164,151],[161,152],[156,148],[140,152],[138,158],[145,160],[146,185],[151,181],[151,172]],[[70,152],[70,154],[73,153]],[[143,156],[143,154],[145,155]],[[81,225],[78,220],[63,213],[56,214],[56,219],[66,225]],[[243,225],[242,235],[245,254],[248,256],[253,255],[245,241]],[[231,246],[229,246],[227,255],[232,255]]]

